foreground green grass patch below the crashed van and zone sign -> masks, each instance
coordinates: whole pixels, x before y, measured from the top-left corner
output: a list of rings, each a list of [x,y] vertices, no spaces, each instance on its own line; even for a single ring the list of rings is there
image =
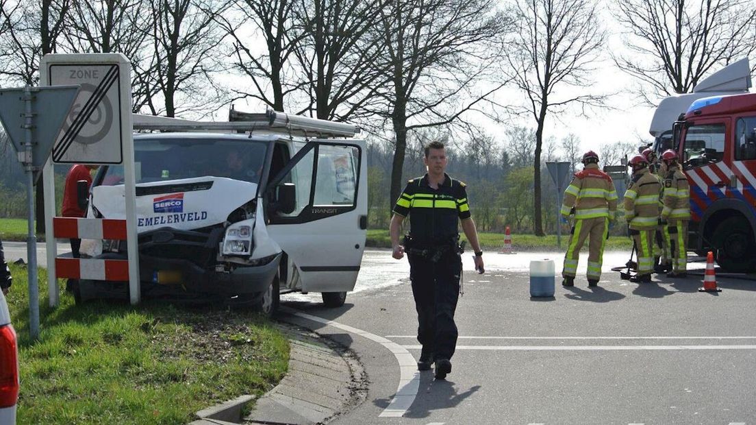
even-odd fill
[[[26,268],[8,294],[19,336],[19,423],[188,423],[194,412],[262,395],[286,374],[289,345],[255,312],[166,302],[48,307],[39,271],[40,337],[29,339]]]

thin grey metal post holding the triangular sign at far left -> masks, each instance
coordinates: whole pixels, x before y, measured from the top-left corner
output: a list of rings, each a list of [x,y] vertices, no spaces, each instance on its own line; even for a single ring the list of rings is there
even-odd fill
[[[25,169],[26,169],[26,200],[28,209],[28,231],[26,238],[26,258],[29,259],[29,265],[26,268],[27,277],[29,278],[29,333],[32,340],[39,338],[39,287],[37,287],[37,237],[34,229],[34,166],[32,163],[32,144],[33,141],[33,110],[32,110],[32,88],[29,85],[23,88],[24,103],[24,146],[26,147]]]

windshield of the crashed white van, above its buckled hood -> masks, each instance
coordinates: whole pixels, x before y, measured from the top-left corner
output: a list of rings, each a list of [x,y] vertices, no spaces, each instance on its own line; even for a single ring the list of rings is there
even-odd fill
[[[259,183],[268,144],[228,138],[135,138],[137,183],[204,176]],[[122,185],[123,167],[109,166],[101,185]]]

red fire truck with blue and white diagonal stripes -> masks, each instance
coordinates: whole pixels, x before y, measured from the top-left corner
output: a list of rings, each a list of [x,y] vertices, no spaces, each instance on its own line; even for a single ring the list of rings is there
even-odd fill
[[[756,269],[756,94],[693,101],[673,126],[690,185],[689,250]]]

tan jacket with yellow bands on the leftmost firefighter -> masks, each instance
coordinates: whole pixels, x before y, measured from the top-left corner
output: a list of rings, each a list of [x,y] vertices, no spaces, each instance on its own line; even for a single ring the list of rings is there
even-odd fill
[[[575,219],[615,219],[617,192],[612,178],[601,171],[598,164],[587,164],[583,171],[576,172],[572,183],[565,190],[564,198],[562,209],[559,211],[562,216],[569,216],[574,206]]]

